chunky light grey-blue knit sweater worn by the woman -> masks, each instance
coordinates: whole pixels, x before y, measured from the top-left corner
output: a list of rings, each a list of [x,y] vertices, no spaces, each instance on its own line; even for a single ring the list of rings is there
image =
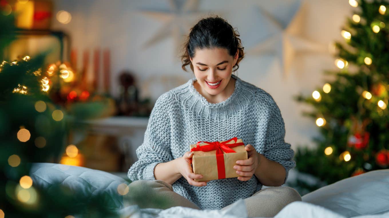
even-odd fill
[[[132,180],[155,180],[154,168],[182,157],[190,144],[215,142],[233,137],[252,144],[266,158],[282,164],[288,172],[296,166],[294,151],[284,141],[285,125],[272,96],[250,83],[236,79],[233,94],[223,102],[208,102],[193,87],[196,78],[163,93],[152,109],[144,142],[128,171]],[[206,186],[190,185],[182,176],[173,190],[201,209],[221,209],[262,189],[253,175],[248,181],[235,178],[211,180]]]

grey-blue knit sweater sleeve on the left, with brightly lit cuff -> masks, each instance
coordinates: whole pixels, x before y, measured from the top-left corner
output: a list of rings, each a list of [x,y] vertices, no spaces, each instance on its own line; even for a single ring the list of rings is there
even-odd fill
[[[173,160],[170,150],[171,104],[168,93],[164,93],[156,100],[144,141],[136,150],[138,160],[128,170],[128,178],[131,181],[155,180],[155,166]]]

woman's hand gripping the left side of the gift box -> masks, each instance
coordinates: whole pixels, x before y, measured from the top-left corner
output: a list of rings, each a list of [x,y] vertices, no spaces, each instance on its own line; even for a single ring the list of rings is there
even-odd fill
[[[179,157],[178,171],[181,173],[182,176],[184,176],[184,178],[186,178],[189,184],[195,186],[205,186],[207,185],[207,182],[209,182],[210,180],[203,181],[203,182],[195,181],[195,179],[203,178],[203,175],[193,173],[192,166],[191,166],[192,156],[193,153],[187,151],[182,157]]]

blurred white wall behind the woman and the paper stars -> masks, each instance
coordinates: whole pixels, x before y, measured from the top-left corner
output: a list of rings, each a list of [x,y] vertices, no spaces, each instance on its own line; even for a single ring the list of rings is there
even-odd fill
[[[256,5],[284,24],[291,21],[294,11],[302,12],[300,35],[324,47],[333,40],[342,41],[341,27],[354,9],[347,0],[306,0],[301,4],[290,0],[202,0],[198,11],[203,16],[212,13],[227,19],[238,29],[245,50],[249,50],[275,31]],[[97,46],[111,49],[111,93],[114,96],[119,93],[117,76],[123,69],[134,72],[141,81],[140,85],[144,85],[141,96],[150,96],[154,100],[193,77],[193,74],[182,71],[180,59],[173,49],[173,37],[168,36],[149,48],[142,47],[164,22],[142,14],[140,10],[169,12],[168,0],[56,0],[54,13],[58,10],[72,14],[72,21],[68,24],[53,22],[54,29],[70,33],[72,47],[80,52]],[[189,29],[186,34],[189,34]],[[78,55],[79,64],[81,54]],[[300,92],[310,95],[316,87],[322,87],[322,73],[324,69],[335,69],[335,57],[329,52],[301,52],[292,60],[286,76],[282,74],[277,56],[271,53],[247,54],[240,64],[238,76],[273,96],[286,124],[285,140],[295,149],[300,145],[313,146],[311,138],[318,134],[318,129],[314,120],[301,116],[301,111],[309,108],[294,102],[292,96]],[[161,77],[165,82],[159,84]]]

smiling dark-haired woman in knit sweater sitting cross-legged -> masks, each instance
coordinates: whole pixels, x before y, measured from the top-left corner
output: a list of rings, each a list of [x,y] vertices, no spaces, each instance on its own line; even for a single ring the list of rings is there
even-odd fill
[[[191,28],[182,69],[190,65],[195,78],[157,99],[138,161],[128,171],[130,192],[151,187],[168,202],[162,209],[225,209],[241,198],[249,216],[274,216],[301,201],[296,190],[280,187],[296,163],[284,142],[279,107],[270,94],[232,74],[244,57],[238,36],[218,16]],[[249,157],[234,167],[240,176],[196,182],[202,175],[192,171],[189,145],[233,137],[242,138]],[[261,190],[262,185],[272,187]]]

